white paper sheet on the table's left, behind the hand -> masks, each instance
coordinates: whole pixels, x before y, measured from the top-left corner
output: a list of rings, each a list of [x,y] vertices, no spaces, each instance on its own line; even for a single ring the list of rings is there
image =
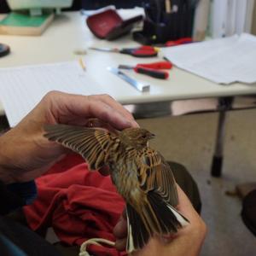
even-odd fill
[[[104,92],[79,61],[0,69],[0,100],[11,126],[20,122],[50,90],[82,95]]]

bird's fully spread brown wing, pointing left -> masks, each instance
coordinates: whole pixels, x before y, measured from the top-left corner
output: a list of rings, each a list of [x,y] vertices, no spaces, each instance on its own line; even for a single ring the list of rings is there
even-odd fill
[[[61,143],[64,147],[81,154],[96,170],[108,160],[109,148],[117,143],[112,132],[100,128],[86,128],[75,125],[44,125],[44,137],[50,141]]]

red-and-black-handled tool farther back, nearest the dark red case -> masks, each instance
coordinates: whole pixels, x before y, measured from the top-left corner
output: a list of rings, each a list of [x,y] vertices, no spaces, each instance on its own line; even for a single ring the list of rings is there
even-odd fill
[[[95,49],[100,51],[107,51],[107,52],[116,52],[125,55],[131,55],[134,57],[140,58],[147,58],[147,57],[154,57],[158,54],[159,49],[149,45],[143,45],[137,48],[98,48],[98,47],[90,47],[89,49]]]

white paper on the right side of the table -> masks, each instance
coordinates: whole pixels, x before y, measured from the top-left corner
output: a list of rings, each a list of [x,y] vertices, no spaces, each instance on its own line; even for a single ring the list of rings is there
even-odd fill
[[[218,84],[256,83],[256,37],[221,38],[162,49],[177,67]]]

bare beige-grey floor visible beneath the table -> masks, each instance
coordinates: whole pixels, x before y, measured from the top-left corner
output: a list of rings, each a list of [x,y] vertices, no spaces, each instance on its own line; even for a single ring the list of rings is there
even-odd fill
[[[241,200],[225,194],[237,183],[256,182],[256,110],[230,112],[224,143],[223,177],[210,176],[217,113],[139,123],[156,134],[151,146],[166,160],[186,166],[201,190],[202,217],[208,226],[201,255],[256,255],[256,238],[241,221]]]

